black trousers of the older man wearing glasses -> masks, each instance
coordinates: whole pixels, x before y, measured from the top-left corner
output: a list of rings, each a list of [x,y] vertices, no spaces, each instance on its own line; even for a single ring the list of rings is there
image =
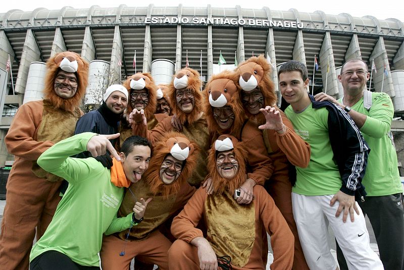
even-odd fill
[[[358,203],[372,224],[384,269],[404,270],[404,206],[402,194],[369,196],[365,197],[365,202]],[[339,269],[348,270],[338,243],[337,259]]]

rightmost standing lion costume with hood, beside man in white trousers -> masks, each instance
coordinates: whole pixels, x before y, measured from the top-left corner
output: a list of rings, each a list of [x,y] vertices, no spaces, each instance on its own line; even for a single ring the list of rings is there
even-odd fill
[[[276,107],[276,96],[274,94],[274,84],[270,79],[272,67],[268,64],[267,60],[261,55],[259,57],[251,57],[247,61],[240,63],[236,69],[239,75],[239,83],[242,87],[240,89],[240,96],[243,92],[261,91],[264,97],[263,108],[266,106],[275,107],[279,111],[283,123],[286,125],[284,134],[279,134],[273,129],[264,129],[263,137],[268,156],[274,162],[274,172],[271,178],[265,183],[265,189],[272,196],[276,206],[286,219],[290,230],[294,235],[295,249],[293,269],[309,269],[303,251],[301,249],[300,241],[297,234],[296,223],[292,213],[292,199],[291,182],[289,170],[290,163],[298,167],[307,167],[310,161],[310,145],[298,136],[292,123],[286,115]],[[266,122],[263,113],[251,114],[244,104],[244,112],[256,126]]]

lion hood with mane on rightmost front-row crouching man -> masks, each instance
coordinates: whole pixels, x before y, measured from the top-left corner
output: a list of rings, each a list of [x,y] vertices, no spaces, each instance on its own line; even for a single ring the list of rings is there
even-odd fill
[[[238,171],[233,179],[226,179],[219,175],[216,167],[216,157],[219,152],[232,150],[234,158],[238,162]],[[224,191],[233,193],[238,187],[245,182],[245,160],[247,151],[244,145],[239,142],[234,136],[229,134],[221,135],[212,145],[208,153],[207,169],[212,177],[212,185],[217,194],[222,194]]]

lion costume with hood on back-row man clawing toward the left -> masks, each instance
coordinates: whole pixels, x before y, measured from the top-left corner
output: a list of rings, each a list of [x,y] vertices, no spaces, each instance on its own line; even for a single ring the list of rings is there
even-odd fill
[[[155,128],[147,130],[140,122],[132,125],[133,135],[147,138],[153,145],[164,137],[166,132],[177,131],[183,134],[189,140],[195,141],[199,147],[198,162],[195,170],[188,179],[188,183],[192,186],[199,187],[204,181],[207,174],[206,159],[207,152],[210,148],[210,136],[206,121],[206,115],[203,113],[204,98],[200,92],[202,82],[199,73],[191,68],[184,68],[174,75],[173,80],[168,85],[168,99],[172,108],[172,113],[182,124],[182,130],[177,130],[171,124],[173,116],[163,119]],[[177,90],[186,91],[192,94],[194,105],[189,113],[183,112],[177,104]]]

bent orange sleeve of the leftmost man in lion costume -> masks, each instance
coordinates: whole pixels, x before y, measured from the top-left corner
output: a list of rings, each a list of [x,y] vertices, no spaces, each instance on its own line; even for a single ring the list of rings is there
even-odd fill
[[[35,141],[42,112],[42,102],[28,102],[18,109],[5,138],[9,153],[26,160],[37,160],[45,150],[54,145],[51,141]]]

